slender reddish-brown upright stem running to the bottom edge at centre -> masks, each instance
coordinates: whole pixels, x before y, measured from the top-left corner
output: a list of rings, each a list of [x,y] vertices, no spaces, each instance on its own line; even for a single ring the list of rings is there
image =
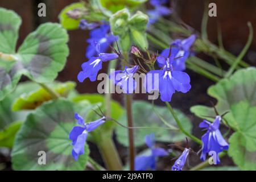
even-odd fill
[[[132,95],[126,94],[126,114],[127,114],[128,127],[133,127],[133,115],[131,112],[131,102],[132,102]],[[135,148],[134,148],[133,129],[128,129],[128,133],[129,133],[130,170],[134,171]]]

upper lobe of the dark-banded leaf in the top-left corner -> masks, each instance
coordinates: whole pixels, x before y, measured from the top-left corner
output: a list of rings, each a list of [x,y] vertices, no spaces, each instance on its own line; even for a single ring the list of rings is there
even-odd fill
[[[15,52],[20,23],[19,15],[0,7],[0,52]]]

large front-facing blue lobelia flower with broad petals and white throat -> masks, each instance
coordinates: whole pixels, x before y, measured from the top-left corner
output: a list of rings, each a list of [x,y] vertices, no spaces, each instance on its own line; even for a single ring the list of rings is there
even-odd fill
[[[185,72],[174,71],[172,64],[174,56],[167,57],[166,64],[161,70],[152,70],[147,73],[144,88],[148,93],[153,90],[160,92],[160,99],[170,102],[172,94],[177,92],[187,93],[191,89],[190,77]]]

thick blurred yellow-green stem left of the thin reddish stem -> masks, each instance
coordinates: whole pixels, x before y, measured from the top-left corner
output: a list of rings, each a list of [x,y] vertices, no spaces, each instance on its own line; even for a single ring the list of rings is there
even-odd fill
[[[100,148],[107,169],[111,171],[122,170],[122,164],[112,140],[112,131],[102,133],[97,140],[97,146]]]

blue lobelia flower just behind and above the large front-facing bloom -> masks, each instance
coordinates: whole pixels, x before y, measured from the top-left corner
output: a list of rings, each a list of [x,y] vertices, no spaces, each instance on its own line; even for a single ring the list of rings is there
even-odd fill
[[[171,55],[174,56],[175,62],[172,64],[175,71],[184,71],[185,70],[185,60],[188,59],[188,56],[190,55],[190,47],[195,42],[196,36],[191,35],[189,38],[180,40],[176,39],[174,42],[172,42],[172,51]],[[168,54],[170,52],[170,48],[164,49],[160,56],[158,56],[157,61],[159,67],[163,67],[163,65],[166,63],[166,58],[168,57]]]

